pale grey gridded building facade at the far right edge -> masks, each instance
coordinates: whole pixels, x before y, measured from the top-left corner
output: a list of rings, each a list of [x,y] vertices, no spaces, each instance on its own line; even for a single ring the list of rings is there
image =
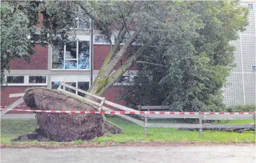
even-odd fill
[[[246,31],[239,33],[240,37],[231,44],[236,46],[235,64],[231,75],[227,77],[224,88],[224,102],[228,106],[251,105],[256,103],[256,13],[255,1],[241,1],[241,5],[248,6],[249,25]]]

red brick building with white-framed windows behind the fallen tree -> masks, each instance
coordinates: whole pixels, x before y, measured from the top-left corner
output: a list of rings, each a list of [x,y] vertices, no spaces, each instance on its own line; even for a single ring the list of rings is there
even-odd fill
[[[42,19],[41,15],[40,19]],[[30,64],[24,59],[13,59],[10,62],[10,74],[5,72],[8,86],[1,88],[1,106],[10,105],[20,98],[9,98],[9,94],[23,93],[29,87],[57,89],[60,82],[65,82],[87,91],[91,85],[91,79],[94,80],[109,53],[109,46],[97,30],[94,30],[91,35],[90,27],[82,26],[83,30],[80,30],[81,25],[79,25],[75,29],[79,39],[76,43],[65,44],[58,48],[51,44],[46,47],[36,44],[35,55],[31,56]],[[42,25],[38,24],[38,27]],[[126,59],[127,57],[124,56],[122,62],[124,63]],[[116,65],[115,70],[120,66],[121,62]],[[112,102],[125,105],[125,101],[120,97],[120,90],[123,87],[123,81],[133,77],[131,74],[135,70],[135,66],[130,68],[102,96]],[[79,94],[75,91],[74,93]]]

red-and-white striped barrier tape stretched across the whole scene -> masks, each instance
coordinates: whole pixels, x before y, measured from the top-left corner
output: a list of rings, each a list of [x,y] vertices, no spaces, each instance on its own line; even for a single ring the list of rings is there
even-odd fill
[[[199,114],[198,112],[169,112],[169,111],[65,111],[65,110],[23,110],[23,109],[5,109],[0,110],[13,110],[13,111],[29,111],[29,112],[40,112],[40,113],[69,113],[69,114]],[[201,114],[254,114],[249,113],[206,113]]]

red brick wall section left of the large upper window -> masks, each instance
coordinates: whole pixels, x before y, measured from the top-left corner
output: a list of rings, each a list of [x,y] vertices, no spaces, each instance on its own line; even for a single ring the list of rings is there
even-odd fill
[[[10,70],[47,70],[48,69],[48,45],[44,48],[40,44],[35,46],[35,55],[31,55],[28,64],[23,58],[10,61]]]

